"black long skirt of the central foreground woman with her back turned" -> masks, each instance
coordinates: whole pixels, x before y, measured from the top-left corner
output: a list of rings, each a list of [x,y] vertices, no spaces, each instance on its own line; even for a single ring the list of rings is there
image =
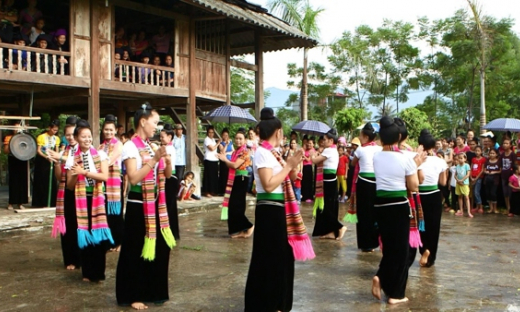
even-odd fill
[[[245,311],[290,311],[293,284],[294,255],[287,240],[284,203],[259,200]]]

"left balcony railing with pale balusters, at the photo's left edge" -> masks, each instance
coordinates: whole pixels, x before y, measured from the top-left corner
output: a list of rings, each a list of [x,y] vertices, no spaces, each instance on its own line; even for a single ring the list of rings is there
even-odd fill
[[[0,55],[0,69],[61,76],[69,74],[66,67],[70,62],[70,52],[0,43]]]

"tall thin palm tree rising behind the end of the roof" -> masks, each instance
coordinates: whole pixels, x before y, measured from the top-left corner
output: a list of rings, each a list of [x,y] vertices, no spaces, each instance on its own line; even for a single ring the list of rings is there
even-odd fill
[[[270,0],[267,6],[271,12],[282,20],[298,28],[309,37],[319,37],[318,15],[324,9],[314,9],[309,0]],[[300,90],[301,120],[307,120],[307,63],[309,48],[303,49],[303,73]]]

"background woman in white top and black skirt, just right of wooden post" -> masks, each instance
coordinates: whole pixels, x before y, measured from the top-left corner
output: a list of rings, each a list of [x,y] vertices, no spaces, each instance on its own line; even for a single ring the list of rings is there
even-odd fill
[[[218,139],[215,139],[215,128],[209,126],[204,139],[204,178],[202,189],[206,197],[212,197],[218,193]]]

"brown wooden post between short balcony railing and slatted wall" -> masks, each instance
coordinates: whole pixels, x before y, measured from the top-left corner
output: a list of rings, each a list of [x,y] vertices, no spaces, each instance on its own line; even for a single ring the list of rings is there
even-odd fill
[[[197,158],[196,145],[199,143],[199,131],[197,128],[197,77],[195,76],[195,21],[190,20],[190,61],[189,61],[189,96],[186,104],[186,170],[194,173],[197,194],[200,194],[201,177],[199,159]]]

